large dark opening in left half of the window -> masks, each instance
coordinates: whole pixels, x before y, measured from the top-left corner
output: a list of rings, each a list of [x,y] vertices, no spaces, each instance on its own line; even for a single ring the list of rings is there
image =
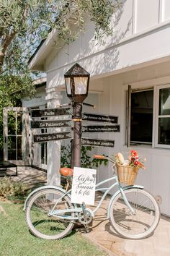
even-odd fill
[[[132,93],[131,142],[152,142],[153,90]]]

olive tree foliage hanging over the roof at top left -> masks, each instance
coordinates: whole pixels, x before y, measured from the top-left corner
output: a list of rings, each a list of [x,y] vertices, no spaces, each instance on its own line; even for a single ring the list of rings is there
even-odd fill
[[[118,7],[112,0],[1,0],[0,74],[22,73],[32,52],[54,28],[58,39],[69,43],[84,31],[89,17],[98,40],[111,35],[110,20]]]

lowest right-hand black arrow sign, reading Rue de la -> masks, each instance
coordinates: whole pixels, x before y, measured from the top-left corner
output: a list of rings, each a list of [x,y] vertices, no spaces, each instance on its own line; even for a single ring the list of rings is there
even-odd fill
[[[81,138],[81,145],[91,146],[91,147],[107,147],[113,148],[115,146],[115,140],[99,140],[99,139],[89,139]]]

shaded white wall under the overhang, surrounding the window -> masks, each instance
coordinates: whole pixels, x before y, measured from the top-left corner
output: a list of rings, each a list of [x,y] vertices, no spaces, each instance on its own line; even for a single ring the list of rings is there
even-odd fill
[[[115,140],[115,148],[98,148],[99,153],[113,155],[122,152],[127,156],[130,149],[137,150],[139,155],[147,158],[146,170],[140,170],[136,184],[143,185],[154,196],[162,198],[161,213],[170,216],[170,150],[152,148],[151,145],[138,145],[127,148],[126,134],[126,92],[128,84],[133,89],[151,88],[156,85],[170,84],[170,64],[156,64],[151,67],[136,69],[115,76],[106,77],[99,81],[103,83],[104,92],[99,95],[98,113],[118,116],[120,133],[102,133],[98,136]],[[97,81],[96,81],[97,82]],[[98,180],[111,175],[108,168],[101,166]]]

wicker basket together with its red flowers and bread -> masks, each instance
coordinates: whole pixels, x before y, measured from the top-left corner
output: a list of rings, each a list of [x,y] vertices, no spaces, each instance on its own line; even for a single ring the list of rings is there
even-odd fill
[[[133,185],[138,174],[138,169],[145,169],[143,162],[146,159],[140,160],[138,153],[135,150],[131,150],[128,160],[124,159],[122,153],[117,153],[115,155],[115,161],[119,181],[124,184]]]

